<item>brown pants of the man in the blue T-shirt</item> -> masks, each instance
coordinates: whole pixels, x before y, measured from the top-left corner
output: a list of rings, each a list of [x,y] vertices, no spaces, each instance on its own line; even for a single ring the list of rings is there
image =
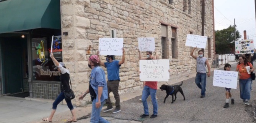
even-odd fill
[[[109,97],[109,93],[113,92],[114,98],[116,99],[116,109],[120,110],[120,96],[118,93],[119,80],[108,81],[107,86],[108,86],[108,99],[106,100],[106,104],[108,105],[108,108],[113,107]]]

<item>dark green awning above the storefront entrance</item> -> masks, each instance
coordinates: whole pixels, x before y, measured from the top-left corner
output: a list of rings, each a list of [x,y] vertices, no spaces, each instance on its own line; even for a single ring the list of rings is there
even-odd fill
[[[60,0],[0,2],[0,33],[60,27]]]

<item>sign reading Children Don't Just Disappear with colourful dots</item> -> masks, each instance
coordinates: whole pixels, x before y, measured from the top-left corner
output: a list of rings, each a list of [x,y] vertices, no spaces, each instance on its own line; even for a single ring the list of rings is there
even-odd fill
[[[253,54],[253,39],[235,41],[235,54]]]

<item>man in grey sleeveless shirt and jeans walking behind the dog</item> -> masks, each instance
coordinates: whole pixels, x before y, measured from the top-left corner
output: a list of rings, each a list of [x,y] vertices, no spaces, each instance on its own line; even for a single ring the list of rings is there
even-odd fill
[[[205,65],[207,65],[208,73],[207,76],[210,77],[210,65],[207,60],[207,58],[203,57],[204,52],[202,50],[198,51],[199,57],[196,57],[193,53],[197,47],[194,47],[194,49],[190,52],[191,57],[195,58],[196,63],[196,85],[198,88],[201,89],[201,98],[205,97],[205,90],[206,90],[206,68]]]

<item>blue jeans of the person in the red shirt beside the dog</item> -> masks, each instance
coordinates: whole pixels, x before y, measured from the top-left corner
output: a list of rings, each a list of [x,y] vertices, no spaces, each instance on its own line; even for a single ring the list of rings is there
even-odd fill
[[[148,103],[147,103],[147,98],[150,95],[151,96],[151,101],[153,104],[153,114],[157,115],[157,99],[156,99],[156,94],[157,94],[157,90],[156,89],[152,89],[150,87],[148,87],[147,85],[145,85],[145,87],[143,88],[142,91],[142,104],[144,107],[144,114],[145,115],[149,115],[148,113]]]

